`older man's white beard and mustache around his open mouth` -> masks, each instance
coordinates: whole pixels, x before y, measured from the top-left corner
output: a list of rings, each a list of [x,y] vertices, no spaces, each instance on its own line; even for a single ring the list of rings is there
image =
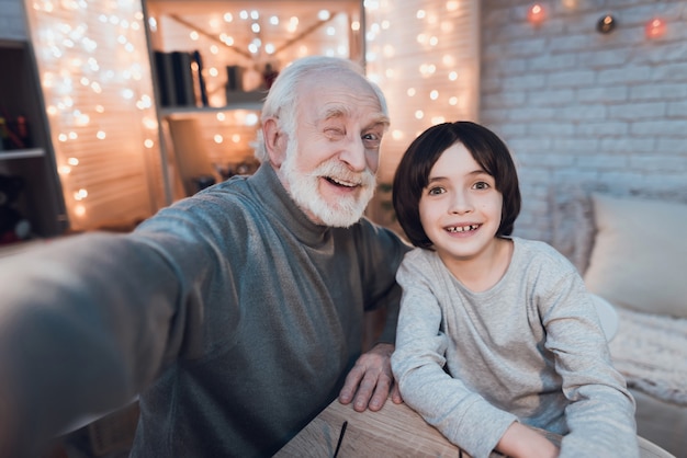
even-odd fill
[[[323,162],[309,173],[303,173],[295,165],[299,147],[293,136],[289,139],[286,148],[286,159],[282,162],[280,172],[296,205],[326,226],[346,228],[356,224],[374,195],[376,185],[374,173],[370,169],[365,169],[362,173],[351,172],[346,164],[335,158]],[[322,176],[338,179],[347,183],[360,183],[360,192],[358,196],[339,197],[333,203],[327,203],[319,193]]]

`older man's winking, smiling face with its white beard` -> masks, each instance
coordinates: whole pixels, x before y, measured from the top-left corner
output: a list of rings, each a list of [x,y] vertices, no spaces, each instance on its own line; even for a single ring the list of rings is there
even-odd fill
[[[299,91],[280,178],[311,220],[348,227],[374,194],[387,117],[369,83],[352,72],[311,76]]]

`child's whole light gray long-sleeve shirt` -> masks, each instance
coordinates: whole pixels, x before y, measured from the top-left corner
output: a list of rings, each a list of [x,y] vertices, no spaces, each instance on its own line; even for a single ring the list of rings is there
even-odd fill
[[[550,245],[513,240],[481,293],[436,252],[406,254],[392,356],[404,400],[475,458],[515,421],[564,435],[561,457],[639,456],[634,400],[581,276]]]

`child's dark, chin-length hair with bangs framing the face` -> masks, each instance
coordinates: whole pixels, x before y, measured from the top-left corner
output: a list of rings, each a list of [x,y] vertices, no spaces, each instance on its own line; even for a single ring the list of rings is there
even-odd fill
[[[396,169],[393,204],[396,217],[415,247],[431,248],[423,229],[419,202],[429,172],[439,157],[454,144],[462,144],[486,173],[494,176],[504,196],[502,220],[496,236],[510,236],[520,213],[518,173],[508,147],[492,130],[469,121],[443,123],[420,134],[408,147]]]

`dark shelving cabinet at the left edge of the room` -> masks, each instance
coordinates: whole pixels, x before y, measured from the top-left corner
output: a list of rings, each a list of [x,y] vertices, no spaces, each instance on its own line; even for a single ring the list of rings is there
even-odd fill
[[[16,209],[29,220],[33,236],[60,234],[67,228],[65,204],[31,46],[0,39],[0,116],[10,124],[22,116],[27,127],[23,145],[4,141],[0,149],[0,175],[24,182]]]

